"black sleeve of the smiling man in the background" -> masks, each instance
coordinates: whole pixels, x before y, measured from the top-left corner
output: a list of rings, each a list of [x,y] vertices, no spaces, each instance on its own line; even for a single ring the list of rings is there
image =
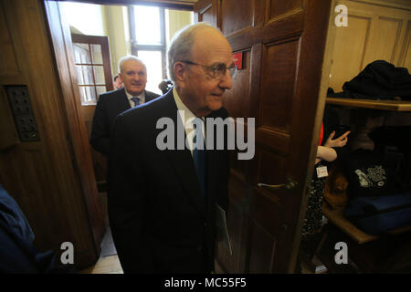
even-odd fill
[[[108,117],[105,109],[103,96],[97,101],[94,110],[93,124],[91,127],[91,146],[105,156],[109,156],[110,151],[110,127],[107,126]]]

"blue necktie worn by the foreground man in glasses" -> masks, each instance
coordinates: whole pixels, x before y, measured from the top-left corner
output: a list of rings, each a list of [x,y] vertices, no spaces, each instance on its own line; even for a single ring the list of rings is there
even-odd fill
[[[195,135],[193,138],[193,160],[195,162],[195,171],[197,172],[197,177],[198,177],[198,182],[200,183],[201,186],[201,191],[203,195],[205,196],[206,193],[206,168],[205,168],[205,143],[203,139],[203,122],[200,119],[196,119],[196,125],[199,127],[195,128]],[[198,145],[197,147],[197,135],[199,136],[199,143],[203,142],[203,147],[200,147],[201,145]],[[200,136],[201,135],[201,136]],[[198,149],[200,148],[200,149]]]

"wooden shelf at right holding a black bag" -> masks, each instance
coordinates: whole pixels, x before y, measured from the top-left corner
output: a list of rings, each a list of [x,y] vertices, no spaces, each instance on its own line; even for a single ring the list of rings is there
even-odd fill
[[[326,102],[345,107],[366,108],[374,110],[411,111],[411,101],[374,100],[374,99],[338,99],[327,98]]]

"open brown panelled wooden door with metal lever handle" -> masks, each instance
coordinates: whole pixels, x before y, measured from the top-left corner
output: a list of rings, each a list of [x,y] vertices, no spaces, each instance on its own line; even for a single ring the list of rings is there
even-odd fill
[[[330,1],[207,0],[196,3],[195,12],[199,21],[220,27],[234,52],[243,52],[225,106],[233,118],[256,123],[254,158],[232,157],[227,224],[233,255],[218,245],[216,261],[229,273],[290,273],[325,99]],[[258,187],[289,180],[296,183],[291,190]]]

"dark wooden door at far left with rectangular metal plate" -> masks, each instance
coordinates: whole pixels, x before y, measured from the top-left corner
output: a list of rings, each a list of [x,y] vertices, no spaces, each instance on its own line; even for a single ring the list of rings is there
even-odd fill
[[[72,243],[74,265],[81,268],[99,258],[104,225],[90,152],[82,143],[84,126],[73,96],[66,99],[60,87],[68,78],[60,79],[58,69],[68,66],[54,57],[50,37],[58,36],[61,26],[54,26],[59,13],[53,6],[56,2],[0,0],[0,183],[25,214],[37,249],[53,250],[59,264],[62,244]],[[9,102],[13,96],[30,105],[31,120],[24,123],[30,121],[37,139],[21,135],[28,124],[16,120],[23,117]]]

